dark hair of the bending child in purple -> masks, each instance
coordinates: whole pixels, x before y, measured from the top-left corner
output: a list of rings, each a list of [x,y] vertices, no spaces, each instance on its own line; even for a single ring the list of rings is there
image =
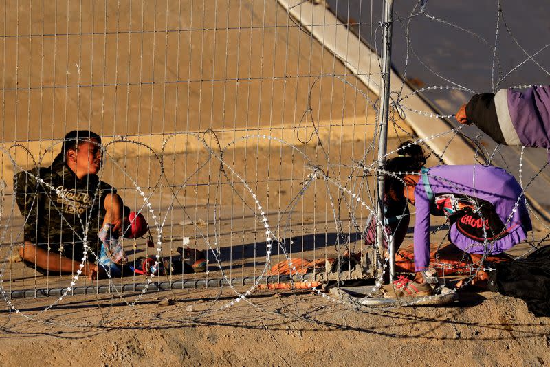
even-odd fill
[[[401,143],[397,149],[398,157],[388,159],[384,164],[384,170],[395,172],[397,175],[388,175],[384,177],[384,192],[386,197],[393,192],[395,199],[404,200],[403,177],[404,173],[417,173],[426,164],[430,154],[425,154],[424,150],[418,144],[410,140]]]

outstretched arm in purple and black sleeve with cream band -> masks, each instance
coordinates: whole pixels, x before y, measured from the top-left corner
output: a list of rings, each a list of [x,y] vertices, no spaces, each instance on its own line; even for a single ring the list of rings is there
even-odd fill
[[[455,117],[499,144],[550,149],[550,85],[476,94]]]

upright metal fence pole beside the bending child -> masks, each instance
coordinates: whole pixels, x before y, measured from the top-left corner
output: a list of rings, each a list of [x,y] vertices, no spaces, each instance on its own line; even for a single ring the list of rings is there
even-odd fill
[[[390,78],[391,78],[391,38],[393,28],[393,0],[384,0],[384,19],[382,21],[382,85],[380,85],[380,140],[378,142],[378,167],[381,168],[386,162],[386,148],[388,140],[388,110],[390,102]],[[378,274],[384,271],[384,175],[378,173],[378,195],[376,214],[381,220],[377,225],[378,244]],[[388,246],[393,241],[388,241]],[[394,253],[388,249],[388,253]],[[390,256],[390,267],[395,267],[395,258]],[[391,279],[392,281],[393,279]]]

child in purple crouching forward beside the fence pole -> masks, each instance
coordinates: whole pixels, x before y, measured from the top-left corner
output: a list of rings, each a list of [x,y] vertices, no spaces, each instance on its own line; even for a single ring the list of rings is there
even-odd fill
[[[449,241],[478,263],[522,242],[532,230],[522,188],[514,176],[495,166],[423,167],[426,155],[412,142],[399,146],[399,157],[384,164],[386,196],[415,205],[415,282],[401,277],[397,296],[430,294],[430,215],[447,216]],[[399,246],[400,243],[396,242]],[[474,277],[482,286],[487,273]]]

